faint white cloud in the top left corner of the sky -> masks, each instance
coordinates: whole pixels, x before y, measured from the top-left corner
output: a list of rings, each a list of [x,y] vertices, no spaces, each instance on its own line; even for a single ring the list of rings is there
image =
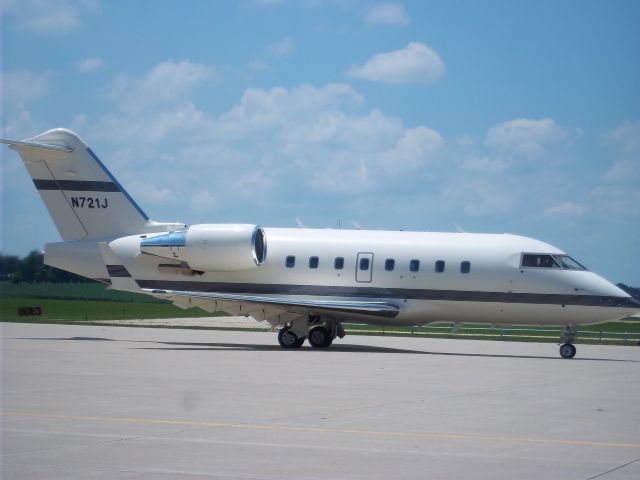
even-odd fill
[[[21,28],[39,35],[61,35],[82,26],[82,16],[100,13],[98,0],[5,0],[5,12],[18,17]]]

